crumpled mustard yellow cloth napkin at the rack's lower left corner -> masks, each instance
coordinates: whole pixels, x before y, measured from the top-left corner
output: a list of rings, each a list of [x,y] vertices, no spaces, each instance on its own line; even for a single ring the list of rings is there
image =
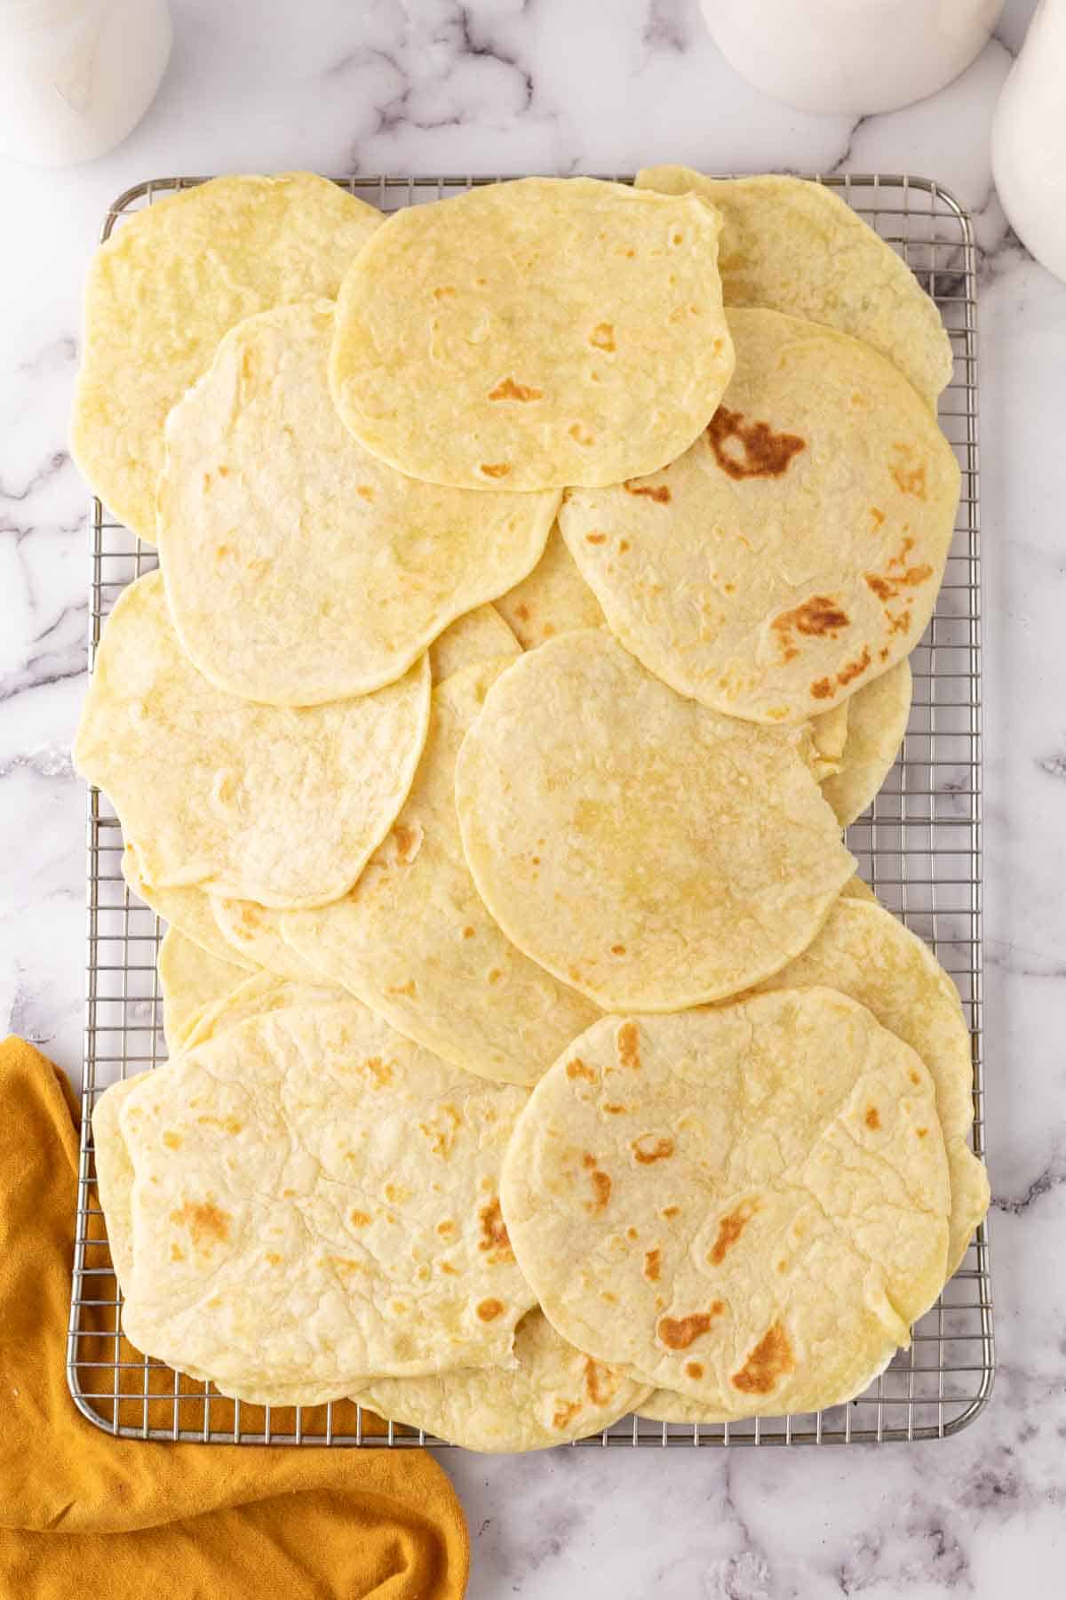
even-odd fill
[[[149,1443],[78,1414],[75,1117],[45,1056],[0,1043],[0,1597],[460,1600],[467,1528],[425,1451]]]

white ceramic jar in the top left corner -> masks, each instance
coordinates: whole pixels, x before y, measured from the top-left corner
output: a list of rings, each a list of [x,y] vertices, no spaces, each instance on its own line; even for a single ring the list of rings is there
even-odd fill
[[[0,0],[0,154],[74,166],[113,149],[155,98],[168,0]]]

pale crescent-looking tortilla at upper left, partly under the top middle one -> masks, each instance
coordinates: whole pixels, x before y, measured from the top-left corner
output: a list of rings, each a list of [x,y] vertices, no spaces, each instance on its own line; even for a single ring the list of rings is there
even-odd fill
[[[321,706],[401,677],[540,558],[559,493],[420,483],[329,398],[329,301],[241,322],[166,419],[158,546],[174,627],[217,688]]]

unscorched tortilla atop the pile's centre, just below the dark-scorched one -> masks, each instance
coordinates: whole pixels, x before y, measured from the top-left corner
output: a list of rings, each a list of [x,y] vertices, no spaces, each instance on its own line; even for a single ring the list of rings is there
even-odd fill
[[[489,688],[455,763],[478,891],[604,1010],[746,989],[855,870],[804,739],[682,699],[603,630],[548,640]]]

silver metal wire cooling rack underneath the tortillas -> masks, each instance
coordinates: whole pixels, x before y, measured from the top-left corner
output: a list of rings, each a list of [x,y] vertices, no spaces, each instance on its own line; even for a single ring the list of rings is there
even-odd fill
[[[115,200],[101,238],[153,200],[198,178],[137,184]],[[438,200],[475,178],[337,179],[379,206]],[[871,808],[847,830],[877,898],[921,934],[954,976],[973,1038],[973,1147],[984,1154],[981,1070],[981,642],[978,554],[977,262],[969,214],[938,184],[905,176],[826,178],[914,270],[954,347],[940,419],[962,469],[954,542],[935,616],[911,658],[914,702],[906,739]],[[155,566],[155,550],[91,507],[89,666],[120,590]],[[438,1445],[388,1424],[364,1427],[348,1402],[272,1411],[224,1400],[121,1339],[121,1296],[94,1189],[89,1112],[107,1085],[166,1058],[155,955],[158,918],[126,888],[121,834],[104,795],[88,805],[88,968],[78,1226],[67,1378],[80,1411],[126,1438],[209,1443]],[[983,1410],[992,1387],[992,1298],[984,1226],[937,1306],[869,1389],[815,1416],[673,1426],[628,1418],[582,1440],[596,1446],[853,1445],[946,1438]]]

